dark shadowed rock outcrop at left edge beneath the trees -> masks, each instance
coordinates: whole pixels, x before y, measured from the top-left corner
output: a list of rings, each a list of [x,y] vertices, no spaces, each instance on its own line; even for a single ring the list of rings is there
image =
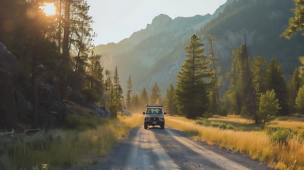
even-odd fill
[[[33,124],[31,87],[14,88],[18,77],[18,61],[5,45],[0,43],[0,128],[11,129],[21,124]],[[66,116],[66,106],[50,86],[38,84],[38,126],[59,127]]]

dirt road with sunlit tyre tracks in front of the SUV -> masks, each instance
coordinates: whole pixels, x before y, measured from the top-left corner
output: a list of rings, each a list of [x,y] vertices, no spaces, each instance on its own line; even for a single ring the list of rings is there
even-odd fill
[[[75,169],[74,169],[75,170]],[[87,170],[271,170],[250,157],[193,141],[171,127],[135,127]]]

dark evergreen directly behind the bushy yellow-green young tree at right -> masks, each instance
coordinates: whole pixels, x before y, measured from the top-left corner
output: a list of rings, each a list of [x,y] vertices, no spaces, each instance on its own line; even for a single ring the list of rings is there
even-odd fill
[[[274,92],[276,93],[276,98],[279,99],[280,107],[282,108],[278,114],[279,115],[288,115],[288,91],[287,91],[287,85],[286,80],[284,77],[284,72],[279,66],[279,62],[273,57],[269,63],[268,69],[268,89],[274,89]]]

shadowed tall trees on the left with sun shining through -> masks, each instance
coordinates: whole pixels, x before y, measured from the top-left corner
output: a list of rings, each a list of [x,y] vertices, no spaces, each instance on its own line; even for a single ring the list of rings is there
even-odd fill
[[[43,11],[45,3],[54,3],[55,15]],[[122,107],[118,69],[105,70],[105,55],[91,52],[96,34],[88,10],[85,0],[0,1],[0,42],[18,60],[14,87],[30,89],[26,99],[33,103],[34,128],[40,116],[39,83],[49,84],[62,100],[84,94],[87,101],[108,108],[113,117]]]

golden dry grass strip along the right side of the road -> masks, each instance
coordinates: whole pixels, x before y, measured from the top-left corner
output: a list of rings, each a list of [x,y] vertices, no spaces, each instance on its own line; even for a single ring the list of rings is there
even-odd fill
[[[261,130],[262,128],[254,127],[250,122],[239,117],[214,117],[209,120],[233,124],[235,129],[239,130],[202,126],[196,124],[194,120],[171,116],[167,116],[166,124],[185,131],[194,139],[200,139],[211,146],[217,144],[222,149],[233,149],[260,162],[267,162],[271,168],[278,170],[304,169],[304,142],[297,136],[288,138],[285,142],[273,142],[267,132]],[[301,126],[301,122],[294,124]]]

